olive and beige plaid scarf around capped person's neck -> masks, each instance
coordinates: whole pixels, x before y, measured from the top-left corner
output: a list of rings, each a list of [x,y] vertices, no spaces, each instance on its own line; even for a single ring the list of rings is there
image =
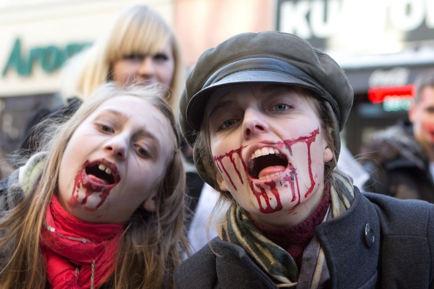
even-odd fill
[[[330,183],[331,207],[329,209],[331,212],[327,215],[331,214],[330,218],[335,219],[351,206],[354,200],[354,188],[351,178],[337,170],[332,173],[332,180]],[[286,250],[264,237],[251,219],[236,204],[233,204],[228,210],[226,222],[222,228],[222,236],[224,241],[244,248],[278,287],[296,287],[299,280],[299,269],[294,259]],[[318,252],[310,281],[311,288],[318,288],[321,284],[319,279],[324,276],[322,271],[327,270],[324,251],[316,237],[313,238],[308,248]],[[328,272],[326,273],[328,274]]]

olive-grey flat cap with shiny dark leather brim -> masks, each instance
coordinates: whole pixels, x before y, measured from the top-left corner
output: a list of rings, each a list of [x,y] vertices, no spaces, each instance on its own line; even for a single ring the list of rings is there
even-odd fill
[[[354,100],[344,71],[308,41],[275,31],[235,35],[199,57],[180,99],[179,123],[187,142],[194,145],[214,90],[249,83],[297,85],[311,90],[333,118],[335,155],[339,157],[339,132]],[[209,162],[202,160],[195,148],[196,168],[207,182],[214,181],[214,176],[207,176]]]

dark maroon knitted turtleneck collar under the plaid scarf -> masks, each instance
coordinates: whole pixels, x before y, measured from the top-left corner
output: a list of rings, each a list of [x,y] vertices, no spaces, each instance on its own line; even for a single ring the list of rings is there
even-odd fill
[[[270,228],[254,222],[268,240],[273,241],[292,256],[299,270],[302,264],[303,252],[313,236],[315,236],[316,226],[322,222],[329,208],[329,192],[330,185],[327,184],[324,189],[324,198],[319,206],[306,220],[298,225],[287,228]]]

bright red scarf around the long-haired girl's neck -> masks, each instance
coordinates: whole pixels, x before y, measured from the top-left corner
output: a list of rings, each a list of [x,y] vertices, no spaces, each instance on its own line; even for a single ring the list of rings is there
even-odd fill
[[[123,224],[80,221],[56,195],[47,207],[40,246],[52,288],[96,288],[113,272]]]

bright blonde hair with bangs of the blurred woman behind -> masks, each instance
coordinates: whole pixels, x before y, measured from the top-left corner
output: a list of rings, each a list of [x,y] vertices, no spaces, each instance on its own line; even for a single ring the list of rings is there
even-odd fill
[[[131,54],[156,54],[168,43],[172,47],[175,71],[166,99],[176,114],[185,76],[181,49],[165,19],[142,5],[123,10],[104,35],[66,63],[62,70],[61,96],[85,99],[97,86],[111,80],[115,61]]]

